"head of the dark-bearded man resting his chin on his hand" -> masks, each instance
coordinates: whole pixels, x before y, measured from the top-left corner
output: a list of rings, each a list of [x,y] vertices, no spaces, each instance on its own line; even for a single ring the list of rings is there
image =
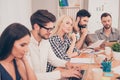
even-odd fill
[[[85,9],[79,10],[76,15],[76,19],[79,18],[79,20],[80,20],[78,23],[78,27],[79,28],[86,27],[90,16],[91,16],[91,14],[87,10],[85,10]]]

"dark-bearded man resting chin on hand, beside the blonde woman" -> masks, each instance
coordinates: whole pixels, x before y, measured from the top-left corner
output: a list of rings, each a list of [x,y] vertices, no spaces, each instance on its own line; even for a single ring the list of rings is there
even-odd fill
[[[76,22],[73,30],[77,34],[76,47],[78,49],[83,47],[85,38],[88,34],[87,24],[90,16],[91,14],[85,9],[81,9],[77,12]]]

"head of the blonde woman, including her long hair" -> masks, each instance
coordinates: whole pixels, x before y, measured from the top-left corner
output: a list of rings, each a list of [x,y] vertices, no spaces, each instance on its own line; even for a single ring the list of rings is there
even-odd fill
[[[57,32],[67,34],[72,32],[72,29],[73,19],[70,16],[63,15],[57,20],[55,29],[53,30],[53,35]]]

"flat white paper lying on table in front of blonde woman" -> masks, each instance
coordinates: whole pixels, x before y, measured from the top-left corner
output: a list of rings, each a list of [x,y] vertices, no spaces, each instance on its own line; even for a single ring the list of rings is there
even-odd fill
[[[94,58],[71,58],[71,63],[85,63],[92,64],[95,63]]]

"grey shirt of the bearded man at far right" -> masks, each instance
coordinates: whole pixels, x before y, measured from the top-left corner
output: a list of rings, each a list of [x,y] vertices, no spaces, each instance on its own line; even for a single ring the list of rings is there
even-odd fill
[[[120,39],[119,31],[115,28],[112,28],[112,31],[111,31],[109,37],[107,37],[105,35],[103,28],[95,31],[95,33],[97,34],[98,39],[100,39],[100,40],[105,39],[106,41],[117,41]]]

